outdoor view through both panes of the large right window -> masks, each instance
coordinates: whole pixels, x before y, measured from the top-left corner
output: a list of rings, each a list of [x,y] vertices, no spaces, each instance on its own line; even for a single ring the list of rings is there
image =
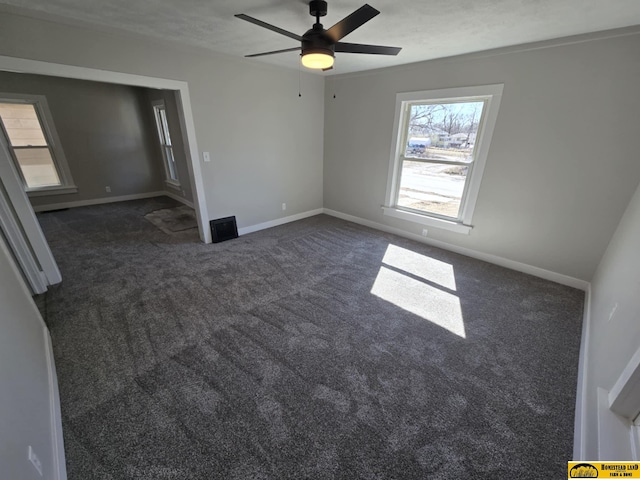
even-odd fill
[[[406,106],[397,207],[460,217],[485,102]]]

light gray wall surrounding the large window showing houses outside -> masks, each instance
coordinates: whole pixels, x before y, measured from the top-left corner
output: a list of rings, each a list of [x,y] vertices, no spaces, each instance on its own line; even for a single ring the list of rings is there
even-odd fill
[[[420,234],[422,225],[380,209],[396,93],[503,83],[475,228],[429,236],[590,280],[640,180],[639,49],[636,31],[330,77],[325,208]]]

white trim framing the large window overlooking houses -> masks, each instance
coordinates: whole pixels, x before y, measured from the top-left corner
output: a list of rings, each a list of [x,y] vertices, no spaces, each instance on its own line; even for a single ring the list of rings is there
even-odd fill
[[[401,218],[414,223],[429,225],[458,233],[469,234],[473,228],[472,219],[475,210],[480,183],[484,167],[489,154],[489,146],[498,118],[500,100],[502,99],[503,84],[483,85],[477,87],[446,88],[440,90],[425,90],[421,92],[407,92],[396,94],[396,110],[393,121],[393,141],[391,143],[391,160],[389,162],[389,174],[387,177],[387,191],[385,205],[382,206],[385,215]],[[487,106],[484,112],[483,125],[480,136],[476,139],[478,150],[475,152],[474,165],[470,178],[467,180],[466,192],[462,198],[460,221],[443,219],[428,213],[417,213],[396,207],[396,198],[400,186],[400,152],[403,151],[403,111],[407,103],[416,101],[461,101],[486,99]]]

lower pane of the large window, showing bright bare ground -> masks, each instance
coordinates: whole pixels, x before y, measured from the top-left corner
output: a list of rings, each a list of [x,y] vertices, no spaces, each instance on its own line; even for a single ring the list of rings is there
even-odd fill
[[[468,170],[462,165],[404,161],[397,205],[457,218]]]

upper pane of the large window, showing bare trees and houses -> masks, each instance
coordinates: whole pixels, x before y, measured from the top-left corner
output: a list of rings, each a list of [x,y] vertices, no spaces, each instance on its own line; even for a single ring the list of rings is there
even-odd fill
[[[411,105],[405,157],[472,162],[484,101]]]

